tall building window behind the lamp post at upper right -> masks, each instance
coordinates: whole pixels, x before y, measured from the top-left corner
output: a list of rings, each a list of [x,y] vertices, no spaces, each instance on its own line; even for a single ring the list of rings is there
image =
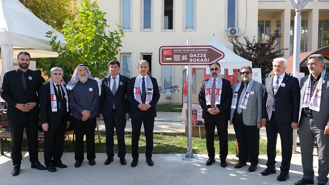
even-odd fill
[[[300,53],[307,52],[307,21],[301,22]],[[293,55],[294,21],[290,21],[290,55]]]

